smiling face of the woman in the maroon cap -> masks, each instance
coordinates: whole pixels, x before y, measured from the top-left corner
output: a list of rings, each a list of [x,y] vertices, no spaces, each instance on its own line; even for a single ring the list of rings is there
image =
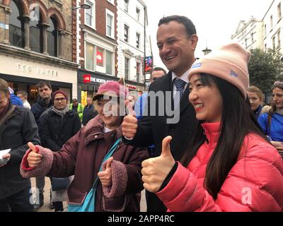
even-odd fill
[[[120,106],[118,102],[98,100],[95,106],[103,123],[108,129],[117,129],[120,126],[123,117],[120,116]]]

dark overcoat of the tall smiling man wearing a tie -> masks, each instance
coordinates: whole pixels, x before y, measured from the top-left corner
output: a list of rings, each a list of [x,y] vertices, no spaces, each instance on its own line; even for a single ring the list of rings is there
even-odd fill
[[[172,83],[172,73],[169,72],[166,76],[158,78],[154,83],[151,83],[149,87],[149,93],[151,91],[162,92],[166,91],[171,92],[171,97],[168,97],[164,94],[165,102],[161,103],[161,106],[164,109],[165,114],[158,116],[158,102],[160,98],[156,98],[156,115],[157,116],[143,116],[141,121],[139,121],[139,126],[137,129],[137,134],[134,136],[132,141],[128,141],[123,138],[123,141],[129,145],[135,147],[147,147],[149,145],[155,145],[155,155],[161,155],[162,141],[166,136],[172,136],[172,141],[170,143],[171,153],[175,160],[180,160],[185,152],[187,142],[192,138],[194,127],[197,124],[197,119],[195,117],[195,109],[189,102],[189,85],[183,93],[183,97],[180,100],[180,120],[177,124],[168,124],[166,119],[169,117],[166,114],[166,103],[171,102],[173,106],[173,83]],[[169,100],[166,99],[169,98]],[[162,99],[162,98],[161,98]],[[150,109],[150,95],[148,95],[148,109]],[[168,106],[167,106],[168,107]],[[150,113],[150,111],[149,111]],[[148,211],[166,211],[166,207],[158,199],[155,194],[147,193],[147,208]]]

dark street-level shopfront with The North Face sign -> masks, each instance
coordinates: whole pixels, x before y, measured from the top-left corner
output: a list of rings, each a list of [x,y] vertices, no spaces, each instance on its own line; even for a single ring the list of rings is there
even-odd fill
[[[78,100],[82,105],[86,105],[86,97],[93,97],[98,91],[99,85],[108,81],[118,81],[119,78],[107,76],[103,73],[90,72],[83,69],[78,71]]]

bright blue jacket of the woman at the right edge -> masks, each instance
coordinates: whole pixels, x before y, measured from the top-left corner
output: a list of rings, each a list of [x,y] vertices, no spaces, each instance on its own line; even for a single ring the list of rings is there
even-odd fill
[[[267,129],[268,114],[260,114],[258,123],[265,135],[270,136],[272,141],[283,141],[283,115],[272,114],[270,129]]]

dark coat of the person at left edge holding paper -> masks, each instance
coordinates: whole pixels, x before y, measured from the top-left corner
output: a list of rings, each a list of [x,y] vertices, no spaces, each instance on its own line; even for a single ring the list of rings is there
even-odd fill
[[[29,141],[40,144],[35,118],[29,109],[16,106],[11,116],[0,125],[0,150],[11,148],[11,160],[0,167],[0,199],[30,186],[30,179],[21,177],[19,171]]]

